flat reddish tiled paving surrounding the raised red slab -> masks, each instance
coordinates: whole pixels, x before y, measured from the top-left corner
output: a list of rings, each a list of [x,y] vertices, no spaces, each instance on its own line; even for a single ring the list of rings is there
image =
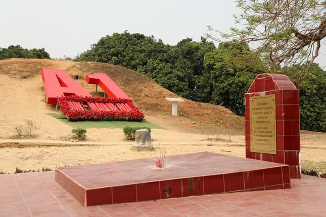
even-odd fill
[[[82,206],[55,172],[0,175],[0,216],[321,216],[326,179],[302,175],[291,188]]]

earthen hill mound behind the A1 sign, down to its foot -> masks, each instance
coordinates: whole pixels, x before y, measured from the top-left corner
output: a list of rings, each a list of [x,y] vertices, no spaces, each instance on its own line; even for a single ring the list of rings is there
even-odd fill
[[[44,114],[53,111],[53,106],[46,105],[44,100],[40,76],[42,68],[62,69],[71,76],[78,76],[76,81],[92,94],[95,94],[95,86],[84,81],[85,75],[105,73],[131,97],[134,104],[145,114],[145,119],[155,124],[167,123],[171,129],[201,134],[244,132],[244,118],[218,105],[184,99],[185,102],[178,103],[178,116],[171,116],[171,102],[165,97],[178,96],[148,77],[124,67],[93,62],[8,59],[0,61],[0,105],[3,108],[0,124],[7,130],[2,133],[13,131],[15,124],[28,119],[33,113],[38,113],[38,124],[41,124],[48,119],[44,118]],[[25,89],[18,91],[22,86]],[[101,91],[98,88],[98,95],[103,94]],[[31,106],[31,103],[38,104],[38,107]],[[10,117],[15,111],[17,115]],[[49,131],[51,132],[50,129]]]

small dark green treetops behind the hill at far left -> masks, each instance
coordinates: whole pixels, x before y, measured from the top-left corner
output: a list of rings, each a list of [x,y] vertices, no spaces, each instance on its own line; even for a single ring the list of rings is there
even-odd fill
[[[24,49],[20,45],[10,45],[8,48],[0,48],[0,60],[10,58],[32,58],[32,59],[51,59],[44,48]]]

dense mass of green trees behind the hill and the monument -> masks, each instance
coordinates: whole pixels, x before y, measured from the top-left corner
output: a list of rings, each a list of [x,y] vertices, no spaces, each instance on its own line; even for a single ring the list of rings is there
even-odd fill
[[[127,31],[101,38],[75,61],[124,66],[147,75],[179,96],[222,105],[240,116],[244,116],[244,94],[253,79],[260,73],[270,72],[265,60],[252,51],[246,41],[221,42],[216,48],[206,38],[199,42],[185,38],[171,46],[154,36]],[[273,72],[286,74],[298,84],[305,69],[305,65],[298,64],[279,67]],[[324,130],[324,75],[325,72],[313,64],[311,76],[297,86],[302,129]]]

